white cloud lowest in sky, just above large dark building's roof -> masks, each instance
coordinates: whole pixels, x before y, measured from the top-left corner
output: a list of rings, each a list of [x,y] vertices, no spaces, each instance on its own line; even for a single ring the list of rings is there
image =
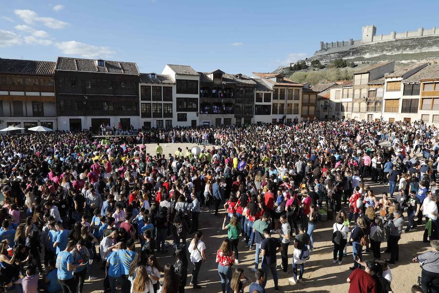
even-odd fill
[[[115,53],[110,47],[89,45],[77,41],[57,42],[55,46],[64,54],[86,58],[107,57]]]

